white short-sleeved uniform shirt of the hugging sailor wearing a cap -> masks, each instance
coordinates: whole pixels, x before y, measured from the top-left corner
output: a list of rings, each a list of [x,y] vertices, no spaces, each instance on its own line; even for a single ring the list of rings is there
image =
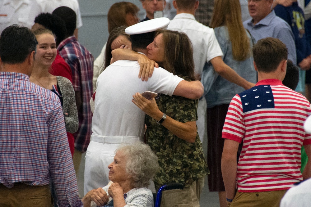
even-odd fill
[[[155,68],[148,81],[138,78],[137,61],[116,61],[97,79],[92,132],[101,136],[133,136],[144,134],[145,113],[132,103],[132,95],[152,91],[173,95],[182,81],[163,68]]]

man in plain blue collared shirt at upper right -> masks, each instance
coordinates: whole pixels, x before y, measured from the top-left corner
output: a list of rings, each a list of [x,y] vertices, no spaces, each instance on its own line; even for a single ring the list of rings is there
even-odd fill
[[[273,0],[248,0],[248,12],[252,19],[244,21],[245,29],[256,41],[273,37],[280,39],[288,49],[288,59],[296,63],[294,35],[290,26],[271,11]]]

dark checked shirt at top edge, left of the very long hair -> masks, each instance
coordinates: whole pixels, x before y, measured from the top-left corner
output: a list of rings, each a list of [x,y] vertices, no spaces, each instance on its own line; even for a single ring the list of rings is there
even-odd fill
[[[214,0],[200,0],[199,7],[195,12],[195,19],[208,26],[210,24],[214,9]]]

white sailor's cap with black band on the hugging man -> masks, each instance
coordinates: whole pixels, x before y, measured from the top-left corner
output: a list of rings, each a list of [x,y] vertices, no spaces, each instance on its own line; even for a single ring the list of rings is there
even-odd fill
[[[166,29],[169,25],[169,18],[160,17],[152,20],[139,22],[125,29],[125,33],[131,35],[132,40],[153,39],[157,29]]]

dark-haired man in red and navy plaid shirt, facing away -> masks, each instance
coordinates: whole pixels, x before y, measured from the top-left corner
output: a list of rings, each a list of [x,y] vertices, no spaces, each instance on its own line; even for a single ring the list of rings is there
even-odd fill
[[[79,128],[75,137],[73,160],[76,172],[79,169],[81,153],[90,143],[92,112],[90,100],[93,94],[93,62],[94,58],[74,36],[76,29],[76,13],[69,7],[58,7],[53,14],[59,16],[66,24],[66,38],[58,45],[59,55],[64,58],[72,70],[72,86],[76,94],[76,105],[79,117]]]

